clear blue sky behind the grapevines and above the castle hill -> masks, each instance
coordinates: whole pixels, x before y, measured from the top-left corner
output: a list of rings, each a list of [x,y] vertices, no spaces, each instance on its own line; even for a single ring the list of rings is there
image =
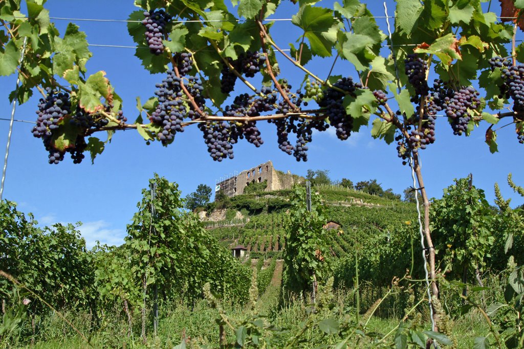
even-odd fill
[[[368,2],[376,16],[384,16],[381,2]],[[394,14],[395,3],[388,0],[389,15]],[[495,8],[494,2],[492,10]],[[322,3],[320,4],[322,5]],[[486,4],[484,4],[486,5]],[[71,2],[54,0],[46,8],[52,17],[127,19],[136,7],[132,1],[85,1]],[[331,7],[326,4],[326,7]],[[298,5],[283,2],[281,10],[273,18],[290,18]],[[236,13],[236,10],[233,10]],[[23,7],[25,12],[25,7]],[[63,34],[67,20],[55,20]],[[128,35],[124,22],[74,21],[88,35],[91,44],[135,46]],[[386,20],[377,19],[378,25],[387,32]],[[272,27],[277,44],[288,48],[300,35],[300,30],[289,21],[278,21]],[[522,33],[519,32],[519,38]],[[124,114],[133,121],[138,112],[135,98],[144,102],[153,96],[155,84],[162,80],[161,74],[151,75],[134,56],[134,49],[91,47],[93,58],[87,67],[89,74],[104,70],[115,91],[124,100]],[[277,56],[278,57],[278,56]],[[294,88],[303,79],[303,73],[278,57],[282,76],[288,78]],[[328,75],[332,59],[320,62],[314,60],[307,67],[321,77]],[[326,64],[325,62],[329,62]],[[339,60],[333,74],[356,76],[347,61]],[[258,84],[256,78],[253,79]],[[7,96],[16,83],[16,76],[2,77],[0,82],[0,118],[9,118],[12,106]],[[38,95],[24,105],[17,106],[15,119],[36,119],[35,110]],[[0,147],[7,141],[8,121],[0,120]],[[516,183],[524,184],[522,147],[517,142],[514,129],[498,131],[499,153],[490,154],[484,143],[486,125],[475,129],[468,138],[453,136],[451,127],[443,118],[436,125],[437,140],[422,152],[422,172],[425,187],[430,196],[440,197],[442,189],[453,182],[453,178],[473,173],[474,184],[486,190],[488,200],[493,201],[493,185],[498,182],[507,198],[514,198],[512,206],[524,201],[506,185],[506,176],[513,173]],[[136,211],[141,198],[141,189],[146,187],[154,172],[177,182],[182,195],[195,190],[200,183],[214,187],[220,177],[235,171],[256,166],[271,160],[278,170],[305,175],[309,168],[329,169],[333,179],[350,178],[353,182],[377,178],[384,188],[401,193],[412,185],[409,167],[402,166],[393,144],[387,145],[374,140],[369,128],[353,133],[349,140],[340,141],[334,130],[316,133],[309,145],[308,162],[297,162],[278,149],[274,126],[260,122],[259,128],[264,139],[260,148],[245,141],[235,145],[235,159],[214,162],[206,151],[201,132],[188,127],[177,134],[169,147],[159,142],[147,146],[134,130],[117,132],[104,153],[95,159],[94,165],[88,159],[74,165],[66,157],[58,165],[47,162],[47,152],[41,140],[32,137],[32,125],[15,122],[10,146],[4,198],[17,202],[24,212],[33,212],[41,223],[77,222],[89,246],[95,240],[118,244],[125,235],[125,227]],[[104,136],[101,135],[102,140]],[[2,159],[4,153],[2,153]]]

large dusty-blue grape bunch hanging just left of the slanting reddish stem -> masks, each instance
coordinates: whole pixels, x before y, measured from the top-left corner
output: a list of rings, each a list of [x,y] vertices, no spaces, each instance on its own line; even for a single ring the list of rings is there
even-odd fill
[[[167,77],[157,84],[155,95],[158,96],[158,105],[149,118],[152,123],[162,126],[158,139],[162,144],[168,144],[174,139],[177,132],[183,132],[182,120],[187,115],[183,103],[181,79],[172,70],[167,71]]]

